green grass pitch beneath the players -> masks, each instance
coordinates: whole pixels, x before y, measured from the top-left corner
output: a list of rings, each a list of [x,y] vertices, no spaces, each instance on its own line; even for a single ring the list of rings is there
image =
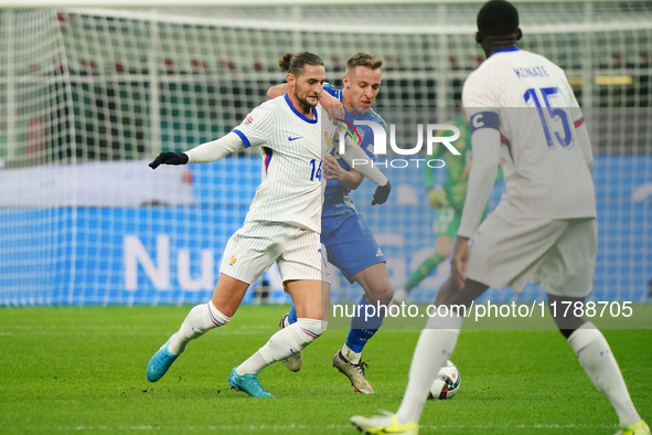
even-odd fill
[[[267,368],[276,399],[228,389],[233,367],[277,330],[282,306],[243,306],[225,328],[192,342],[157,383],[153,352],[190,307],[0,309],[0,434],[354,434],[349,417],[396,411],[418,330],[384,329],[367,344],[375,395],[353,392],[332,368],[345,330],[304,351],[298,373]],[[652,306],[635,306],[652,318]],[[652,329],[605,330],[639,412],[652,422]],[[466,329],[452,357],[453,400],[428,401],[421,433],[613,434],[617,417],[562,335],[551,329]]]

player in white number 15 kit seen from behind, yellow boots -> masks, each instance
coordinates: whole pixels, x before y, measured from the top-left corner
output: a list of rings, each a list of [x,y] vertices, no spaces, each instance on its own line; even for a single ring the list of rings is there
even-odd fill
[[[520,50],[521,36],[519,13],[507,1],[487,2],[478,13],[475,39],[487,60],[462,91],[473,165],[451,277],[435,305],[470,307],[490,286],[521,291],[531,280],[546,290],[549,305],[582,304],[592,289],[596,195],[584,117],[564,71]],[[499,163],[506,193],[480,224]],[[619,434],[649,435],[602,333],[582,316],[564,317],[559,311],[557,327],[611,402],[622,427]],[[417,342],[397,413],[354,416],[353,425],[370,434],[417,434],[429,388],[452,354],[461,322],[455,311],[430,318]]]

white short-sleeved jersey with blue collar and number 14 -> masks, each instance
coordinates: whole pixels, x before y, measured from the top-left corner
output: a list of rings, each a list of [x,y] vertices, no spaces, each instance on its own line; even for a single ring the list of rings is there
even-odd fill
[[[323,189],[321,114],[307,118],[288,95],[256,107],[233,129],[245,147],[261,147],[263,180],[245,222],[285,222],[321,231]]]

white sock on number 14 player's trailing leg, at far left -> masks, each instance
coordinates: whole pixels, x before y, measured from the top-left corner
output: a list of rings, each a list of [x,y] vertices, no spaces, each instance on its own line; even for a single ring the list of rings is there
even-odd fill
[[[181,328],[170,338],[168,350],[174,354],[180,354],[185,350],[188,342],[203,336],[206,331],[217,328],[231,320],[231,317],[224,316],[210,300],[209,304],[201,304],[193,307]]]

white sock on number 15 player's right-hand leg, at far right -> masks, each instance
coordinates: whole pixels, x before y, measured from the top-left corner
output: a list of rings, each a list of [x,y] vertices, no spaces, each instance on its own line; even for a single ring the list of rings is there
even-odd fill
[[[629,427],[640,422],[641,416],[602,332],[594,323],[586,322],[568,337],[568,343],[594,385],[611,402],[620,424]]]

